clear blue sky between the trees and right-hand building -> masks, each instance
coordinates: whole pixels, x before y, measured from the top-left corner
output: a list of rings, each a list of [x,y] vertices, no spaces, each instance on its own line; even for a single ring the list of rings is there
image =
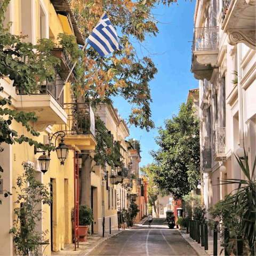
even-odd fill
[[[149,83],[153,99],[150,106],[156,129],[147,132],[128,125],[130,136],[126,139],[140,140],[142,150],[140,167],[153,162],[148,152],[157,149],[154,140],[154,137],[158,135],[157,127],[164,126],[164,119],[171,118],[172,114],[178,113],[179,105],[187,100],[188,90],[198,87],[198,81],[190,72],[192,43],[188,42],[193,41],[196,1],[179,0],[178,4],[170,5],[170,7],[157,6],[154,13],[163,15],[157,16],[158,20],[172,23],[158,23],[157,37],[147,38],[150,41],[152,52],[165,53],[151,58],[158,69],[155,79]],[[113,100],[118,113],[126,119],[131,109],[129,103],[121,97]]]

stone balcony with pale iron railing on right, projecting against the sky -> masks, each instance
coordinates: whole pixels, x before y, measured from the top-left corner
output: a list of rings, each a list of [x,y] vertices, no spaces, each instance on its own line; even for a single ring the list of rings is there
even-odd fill
[[[210,81],[213,69],[217,67],[219,28],[194,28],[191,73],[196,79]]]

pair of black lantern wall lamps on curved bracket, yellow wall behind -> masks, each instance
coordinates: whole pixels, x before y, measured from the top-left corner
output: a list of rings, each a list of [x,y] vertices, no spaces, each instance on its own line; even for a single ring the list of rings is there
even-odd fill
[[[57,134],[57,137],[55,138],[55,143],[53,145],[52,138],[53,136]],[[55,132],[52,137],[50,137],[50,135],[48,135],[49,137],[49,146],[50,147],[55,147],[56,148],[56,141],[57,138],[60,137],[61,138],[61,142],[59,143],[59,146],[56,148],[56,153],[58,158],[60,159],[60,165],[64,165],[64,161],[68,156],[68,150],[69,148],[66,146],[66,144],[63,142],[63,138],[65,137],[65,132],[63,131],[59,131],[59,132]],[[47,172],[48,168],[49,168],[49,162],[50,162],[50,151],[48,150],[48,155],[45,154],[45,151],[40,151],[38,148],[35,147],[34,149],[34,153],[43,153],[42,156],[39,156],[38,161],[39,161],[39,166],[41,169],[41,172],[45,173]]]

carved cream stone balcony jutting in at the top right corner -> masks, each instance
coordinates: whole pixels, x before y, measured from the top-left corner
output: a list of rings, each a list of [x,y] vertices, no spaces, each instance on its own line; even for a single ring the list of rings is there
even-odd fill
[[[223,1],[221,29],[228,35],[228,43],[244,43],[256,50],[256,15],[253,0]]]

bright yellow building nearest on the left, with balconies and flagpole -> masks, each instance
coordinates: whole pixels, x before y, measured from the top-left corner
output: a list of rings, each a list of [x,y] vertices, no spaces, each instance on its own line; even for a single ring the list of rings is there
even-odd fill
[[[61,6],[61,7],[60,7]],[[84,39],[79,33],[73,13],[66,1],[49,1],[49,0],[11,0],[7,7],[5,23],[13,22],[10,28],[10,33],[15,35],[28,35],[26,40],[36,44],[40,38],[51,38],[53,42],[57,42],[59,33],[74,34],[77,37],[78,44],[84,44]],[[64,142],[69,147],[69,154],[64,165],[60,165],[55,152],[51,153],[51,161],[49,170],[43,174],[38,166],[38,157],[42,153],[36,153],[34,147],[30,147],[28,143],[18,145],[1,144],[4,151],[1,153],[0,165],[3,167],[2,174],[3,189],[13,191],[18,175],[23,173],[21,163],[23,161],[34,165],[37,180],[44,184],[52,182],[51,190],[53,201],[51,206],[41,205],[43,219],[38,223],[38,231],[49,230],[46,238],[49,239],[50,245],[46,247],[44,255],[51,255],[51,251],[59,251],[64,247],[65,243],[72,243],[72,226],[71,226],[71,209],[74,207],[74,156],[81,150],[92,150],[95,148],[96,141],[94,139],[94,113],[91,107],[86,103],[82,106],[83,109],[88,109],[89,114],[84,114],[87,118],[90,115],[91,126],[90,131],[78,132],[75,127],[74,109],[77,110],[77,105],[71,102],[71,84],[74,75],[68,79],[65,85],[65,79],[70,70],[68,65],[68,57],[63,57],[63,49],[55,49],[58,52],[61,64],[66,69],[60,69],[60,73],[56,71],[54,83],[45,81],[41,90],[33,95],[20,95],[15,87],[12,86],[12,81],[9,78],[0,78],[1,86],[4,91],[0,93],[0,97],[12,97],[11,109],[23,111],[35,111],[39,116],[36,123],[33,125],[36,131],[40,132],[39,137],[33,137],[34,140],[42,143],[49,143],[48,138],[52,137],[55,132],[64,131],[66,133]],[[62,90],[63,89],[63,90]],[[81,107],[81,106],[80,106]],[[32,138],[27,130],[18,124],[12,122],[12,129],[20,135],[25,135]],[[58,133],[57,133],[58,135]],[[56,140],[57,139],[57,140]],[[51,142],[55,142],[58,146],[60,137],[53,136]],[[50,188],[49,188],[50,189]],[[1,232],[0,232],[0,255],[14,255],[12,234],[9,234],[15,218],[13,209],[20,205],[14,203],[17,201],[17,196],[13,191],[12,196],[4,198],[1,207]],[[45,246],[41,246],[43,250]]]

